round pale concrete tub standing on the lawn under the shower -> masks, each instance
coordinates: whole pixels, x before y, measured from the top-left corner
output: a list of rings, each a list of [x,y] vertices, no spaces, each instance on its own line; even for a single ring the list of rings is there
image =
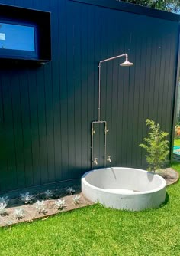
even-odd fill
[[[106,207],[140,211],[165,201],[166,181],[142,169],[95,169],[82,176],[82,194]]]

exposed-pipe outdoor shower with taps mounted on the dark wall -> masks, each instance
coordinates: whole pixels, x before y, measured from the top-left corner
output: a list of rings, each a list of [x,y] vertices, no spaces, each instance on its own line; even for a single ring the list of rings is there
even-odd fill
[[[104,167],[106,167],[106,162],[111,162],[111,156],[106,156],[106,136],[108,133],[108,127],[107,127],[107,121],[101,120],[101,64],[106,61],[112,61],[114,59],[117,59],[119,57],[126,57],[126,61],[120,64],[121,67],[130,67],[133,66],[133,63],[128,61],[128,55],[127,54],[121,54],[117,55],[115,57],[110,57],[108,59],[99,61],[98,63],[98,120],[92,122],[92,143],[91,143],[91,150],[92,150],[92,156],[91,156],[91,161],[92,161],[92,169],[93,169],[93,164],[98,165],[98,158],[95,157],[93,159],[93,152],[94,152],[94,135],[95,135],[95,130],[94,130],[94,124],[95,123],[104,123]]]

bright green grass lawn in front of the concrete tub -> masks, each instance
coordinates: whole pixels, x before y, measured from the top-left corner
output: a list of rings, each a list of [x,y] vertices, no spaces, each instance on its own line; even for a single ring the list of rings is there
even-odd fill
[[[180,164],[173,164],[180,171]],[[180,255],[180,182],[161,208],[124,212],[93,205],[0,230],[0,255]]]

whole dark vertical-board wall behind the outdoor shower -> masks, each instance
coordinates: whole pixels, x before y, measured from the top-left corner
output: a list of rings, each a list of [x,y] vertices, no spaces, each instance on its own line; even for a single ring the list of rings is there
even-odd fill
[[[138,144],[147,117],[171,133],[178,15],[148,14],[111,0],[87,2],[0,0],[51,11],[53,60],[0,68],[0,192],[79,178],[91,168],[102,59],[127,52],[134,63],[119,67],[120,59],[101,67],[101,119],[110,130],[111,166],[145,165]],[[95,133],[97,167],[103,164],[102,129]]]

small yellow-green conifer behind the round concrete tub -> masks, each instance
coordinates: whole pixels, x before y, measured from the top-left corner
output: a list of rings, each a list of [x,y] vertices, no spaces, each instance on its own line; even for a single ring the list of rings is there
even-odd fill
[[[147,170],[155,172],[164,166],[169,154],[169,141],[165,139],[168,133],[162,132],[159,123],[156,124],[153,120],[146,119],[146,126],[149,126],[150,132],[143,139],[145,143],[139,146],[146,150]]]

